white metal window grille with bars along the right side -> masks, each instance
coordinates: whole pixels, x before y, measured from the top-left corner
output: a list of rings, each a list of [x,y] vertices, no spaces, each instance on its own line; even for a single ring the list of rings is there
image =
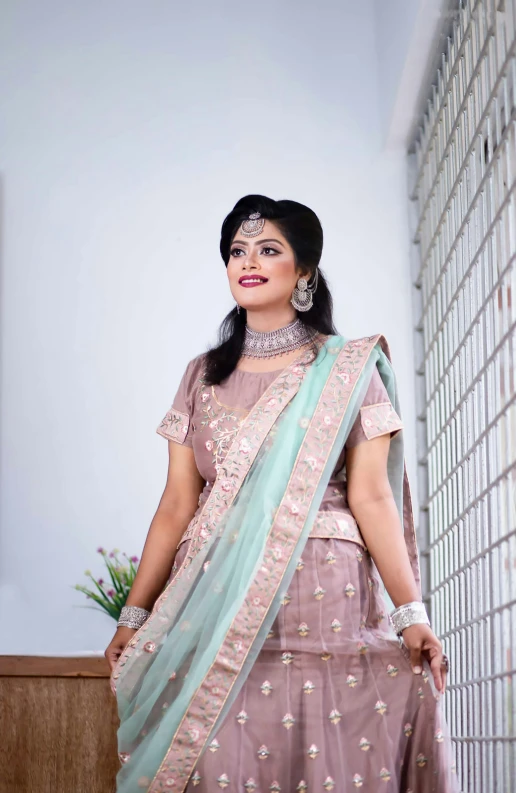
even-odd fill
[[[411,155],[420,534],[467,793],[516,791],[516,0],[465,0]]]

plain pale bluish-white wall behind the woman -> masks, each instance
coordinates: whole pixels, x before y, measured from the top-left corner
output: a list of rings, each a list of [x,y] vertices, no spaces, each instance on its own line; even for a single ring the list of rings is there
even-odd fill
[[[372,0],[2,7],[0,652],[96,651],[114,623],[71,587],[98,545],[141,550],[241,195],[317,211],[339,329],[386,334],[413,426],[403,153]]]

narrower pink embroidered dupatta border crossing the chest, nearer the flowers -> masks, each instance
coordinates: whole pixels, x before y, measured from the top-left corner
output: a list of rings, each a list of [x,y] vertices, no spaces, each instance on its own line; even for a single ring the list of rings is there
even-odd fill
[[[318,351],[324,346],[327,339],[327,336],[319,337],[316,342]],[[271,427],[299,390],[301,381],[313,360],[312,349],[303,350],[272,381],[242,422],[223,464],[217,471],[210,495],[201,512],[191,521],[193,533],[190,547],[179,570],[156,599],[150,616],[129,640],[113,668],[110,678],[113,694],[116,695],[116,681],[120,677],[123,667],[138,645],[145,640],[145,633],[149,628],[150,621],[158,614],[165,600],[173,594],[192,559],[206,545],[213,534],[217,521],[236,498]]]

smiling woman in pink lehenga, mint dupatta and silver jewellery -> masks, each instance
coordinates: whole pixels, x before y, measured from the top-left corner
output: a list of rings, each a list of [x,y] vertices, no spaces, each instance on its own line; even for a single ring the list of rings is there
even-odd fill
[[[454,789],[389,351],[337,335],[322,238],[264,196],[223,223],[237,306],[158,428],[167,484],[106,650],[119,793]]]

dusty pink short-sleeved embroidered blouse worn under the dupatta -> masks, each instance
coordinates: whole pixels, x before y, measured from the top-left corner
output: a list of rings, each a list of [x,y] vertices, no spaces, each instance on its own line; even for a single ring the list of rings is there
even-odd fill
[[[264,391],[280,374],[244,372],[235,369],[220,385],[203,382],[204,353],[186,367],[172,407],[157,428],[167,440],[193,448],[195,462],[206,485],[199,506],[206,501],[215,481],[217,468],[226,456],[241,423]],[[335,466],[324,494],[320,511],[346,512],[346,450],[371,438],[402,429],[378,370],[375,369],[362,401],[359,415]]]

